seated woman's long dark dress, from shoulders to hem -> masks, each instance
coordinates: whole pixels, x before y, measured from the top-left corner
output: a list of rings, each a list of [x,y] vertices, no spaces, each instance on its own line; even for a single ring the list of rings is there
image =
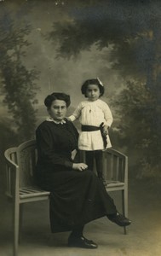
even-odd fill
[[[94,172],[72,170],[72,150],[78,147],[78,131],[71,122],[44,121],[36,131],[37,183],[51,191],[52,232],[72,230],[106,214],[116,207]]]

